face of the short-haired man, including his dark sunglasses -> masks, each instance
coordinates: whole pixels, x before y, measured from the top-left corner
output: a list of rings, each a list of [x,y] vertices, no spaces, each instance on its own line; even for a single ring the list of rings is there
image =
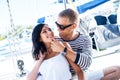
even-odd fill
[[[64,38],[68,36],[72,30],[72,26],[74,23],[70,23],[68,18],[59,17],[58,20],[55,22],[56,26],[58,27],[59,36]]]

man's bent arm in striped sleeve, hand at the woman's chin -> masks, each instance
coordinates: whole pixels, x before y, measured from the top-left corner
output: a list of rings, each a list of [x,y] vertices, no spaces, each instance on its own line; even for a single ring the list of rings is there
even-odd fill
[[[62,41],[61,38],[56,38],[58,41]],[[79,65],[82,70],[86,70],[92,62],[92,40],[90,36],[84,36],[80,35],[80,37],[77,40],[73,40],[71,44],[68,44],[68,42],[63,42],[64,45],[56,44],[56,46],[53,48],[56,52],[61,52],[64,50],[65,47],[67,47],[67,51],[65,56]],[[61,46],[60,46],[61,45]],[[73,50],[74,48],[74,50]]]

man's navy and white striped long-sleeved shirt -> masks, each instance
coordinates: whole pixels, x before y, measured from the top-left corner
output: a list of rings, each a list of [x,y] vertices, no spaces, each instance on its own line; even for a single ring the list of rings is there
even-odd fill
[[[58,40],[68,42],[70,44],[71,48],[77,54],[77,61],[75,63],[78,64],[83,71],[87,70],[92,63],[92,40],[90,36],[79,34],[79,36],[74,40],[66,41],[61,38]]]

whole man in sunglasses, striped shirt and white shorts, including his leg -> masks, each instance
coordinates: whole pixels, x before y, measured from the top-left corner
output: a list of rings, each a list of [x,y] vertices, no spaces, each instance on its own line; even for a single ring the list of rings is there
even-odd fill
[[[64,56],[79,65],[85,72],[87,80],[118,80],[120,78],[119,66],[90,73],[86,71],[92,63],[92,40],[88,35],[76,31],[79,23],[77,12],[72,9],[65,9],[59,13],[55,23],[62,41],[67,42],[65,44],[69,46]],[[62,46],[55,42],[52,44],[56,44],[56,47],[61,47],[62,50],[66,48],[66,46],[62,44]],[[72,72],[74,73],[74,71]],[[116,75],[116,73],[118,75]]]

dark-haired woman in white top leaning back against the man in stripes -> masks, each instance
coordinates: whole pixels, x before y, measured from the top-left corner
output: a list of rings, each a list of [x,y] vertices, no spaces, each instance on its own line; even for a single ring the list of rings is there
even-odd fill
[[[66,59],[63,55],[66,48],[64,50],[59,48],[59,52],[55,52],[52,49],[53,45],[51,43],[53,41],[57,42],[54,39],[54,33],[47,24],[38,24],[35,26],[32,33],[32,56],[36,60],[36,64],[28,74],[27,80],[71,80],[72,75],[69,63],[73,68],[76,68],[75,71],[78,74],[79,80],[83,78],[83,73],[81,75],[82,70],[78,69],[74,63]],[[58,41],[58,44],[63,43]]]

